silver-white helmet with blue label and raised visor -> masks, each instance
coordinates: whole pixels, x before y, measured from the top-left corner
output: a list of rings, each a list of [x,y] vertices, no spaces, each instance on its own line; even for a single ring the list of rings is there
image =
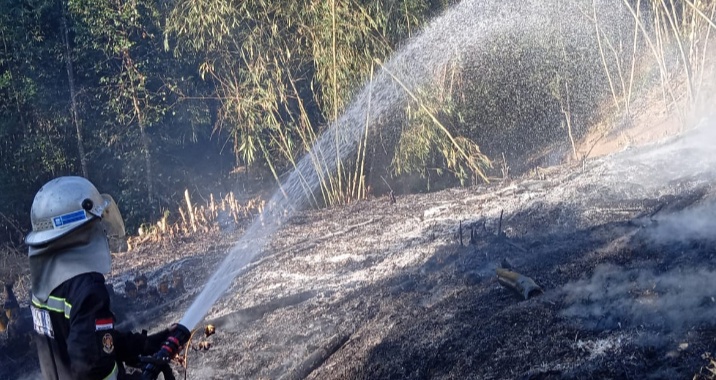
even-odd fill
[[[35,195],[30,211],[32,232],[25,238],[25,243],[29,246],[47,244],[94,218],[109,219],[111,223],[105,223],[109,224],[106,227],[113,233],[124,235],[124,223],[112,197],[100,194],[85,178],[55,178]]]

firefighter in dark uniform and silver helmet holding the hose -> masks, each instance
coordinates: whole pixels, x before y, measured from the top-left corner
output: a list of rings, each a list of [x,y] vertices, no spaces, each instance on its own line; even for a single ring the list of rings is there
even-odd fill
[[[108,236],[124,235],[112,197],[82,177],[59,177],[35,195],[29,246],[32,319],[48,380],[130,379],[124,365],[162,348],[170,329],[147,335],[115,328],[104,274]]]

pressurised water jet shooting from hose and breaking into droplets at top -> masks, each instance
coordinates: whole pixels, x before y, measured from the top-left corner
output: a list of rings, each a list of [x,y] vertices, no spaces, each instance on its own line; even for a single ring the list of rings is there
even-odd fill
[[[598,4],[600,10],[606,14],[609,13],[608,9],[615,8],[610,6],[617,3],[615,0],[602,0],[594,4]],[[580,4],[588,4],[591,9],[593,2]],[[337,160],[325,159],[325,157],[345,159],[354,154],[366,126],[374,130],[392,127],[393,130],[390,132],[398,133],[399,131],[394,130],[397,129],[396,125],[400,125],[395,120],[396,114],[404,111],[406,104],[413,100],[411,97],[417,93],[417,89],[426,87],[430,89],[439,81],[439,73],[445,72],[448,68],[457,66],[461,72],[477,77],[470,78],[474,83],[464,84],[462,88],[462,91],[477,94],[480,88],[485,91],[500,88],[500,86],[485,87],[487,79],[480,77],[481,75],[499,71],[500,75],[509,76],[511,72],[524,71],[519,66],[524,64],[522,61],[513,62],[517,65],[512,69],[513,71],[505,71],[504,67],[490,66],[495,63],[490,61],[490,54],[496,49],[510,51],[510,49],[524,48],[526,43],[535,41],[535,38],[542,34],[547,39],[554,38],[556,33],[554,23],[559,23],[565,31],[573,33],[570,39],[564,38],[561,42],[563,45],[572,48],[583,45],[584,41],[593,34],[592,27],[583,22],[583,17],[584,15],[579,12],[579,4],[573,2],[554,1],[550,6],[546,6],[541,0],[518,3],[466,0],[432,21],[422,33],[408,41],[382,65],[382,69],[355,95],[338,120],[335,120],[318,137],[311,149],[296,164],[293,172],[281,183],[280,189],[271,197],[262,214],[230,249],[224,261],[186,311],[181,324],[190,329],[194,328],[219,297],[227,291],[235,276],[262,252],[272,234],[296,211],[315,203],[313,192],[317,191],[322,179],[335,173],[339,165]],[[515,44],[515,41],[518,43]],[[554,58],[550,55],[553,53],[551,50],[550,54],[542,54],[546,49],[545,46],[549,48],[551,43],[542,41],[541,46],[525,50],[525,55],[517,57],[532,63],[539,63],[545,57]],[[542,54],[544,57],[530,56],[530,54]],[[565,56],[564,59],[566,60],[567,57]],[[595,88],[596,84],[592,83],[595,80],[592,76],[585,79],[584,82],[589,82],[590,85],[582,86],[584,90]],[[510,87],[510,91],[520,89],[521,85],[519,82],[514,84]],[[492,95],[488,92],[480,99],[485,96]],[[369,104],[370,113],[366,115]],[[492,116],[499,116],[500,112],[504,111],[481,105],[476,107],[477,111]],[[505,125],[521,126],[534,121],[536,112],[530,114],[531,108],[527,109],[528,111],[515,120],[505,122]],[[558,111],[556,114],[561,115]],[[559,126],[553,128],[559,129]],[[521,141],[531,141],[533,135],[534,133],[525,134]],[[322,164],[315,165],[316,161]]]

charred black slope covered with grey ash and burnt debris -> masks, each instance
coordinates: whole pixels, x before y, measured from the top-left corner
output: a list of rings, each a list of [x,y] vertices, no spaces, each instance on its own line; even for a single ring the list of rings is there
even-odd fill
[[[217,333],[211,349],[189,352],[187,378],[706,374],[716,349],[713,141],[701,128],[578,167],[295,215],[210,310]],[[117,254],[109,281],[125,327],[179,320],[239,236]],[[501,286],[501,266],[544,293],[525,300]],[[125,293],[139,274],[151,287],[177,272],[184,291]]]

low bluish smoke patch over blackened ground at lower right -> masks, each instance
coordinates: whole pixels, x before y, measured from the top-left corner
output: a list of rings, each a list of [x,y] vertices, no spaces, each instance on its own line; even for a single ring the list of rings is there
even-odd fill
[[[591,278],[564,287],[562,315],[601,330],[642,326],[681,331],[716,325],[716,271],[675,269],[665,273],[598,266]]]

